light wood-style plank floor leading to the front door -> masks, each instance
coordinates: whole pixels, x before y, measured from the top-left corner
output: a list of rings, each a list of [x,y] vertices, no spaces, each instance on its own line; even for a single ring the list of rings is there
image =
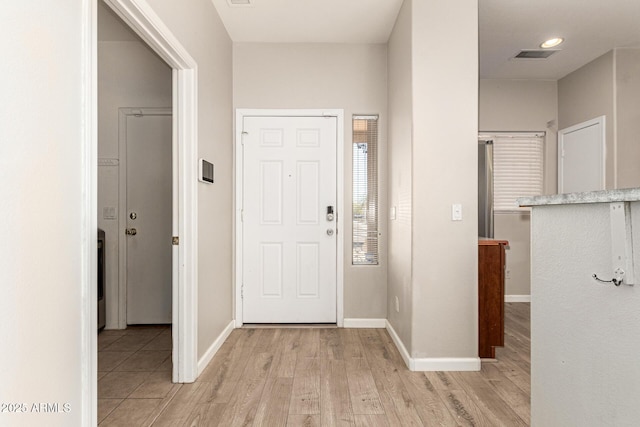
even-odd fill
[[[99,381],[100,426],[526,426],[529,304],[505,310],[505,347],[481,372],[410,372],[384,329],[338,328],[237,329],[193,384],[171,384],[166,361],[129,381],[103,364],[100,381],[116,374],[132,391],[100,396],[117,393]]]

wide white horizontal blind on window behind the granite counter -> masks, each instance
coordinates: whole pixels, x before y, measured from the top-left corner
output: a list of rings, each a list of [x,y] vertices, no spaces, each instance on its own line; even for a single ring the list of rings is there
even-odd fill
[[[491,139],[494,211],[527,210],[516,199],[543,193],[544,134],[493,134]]]

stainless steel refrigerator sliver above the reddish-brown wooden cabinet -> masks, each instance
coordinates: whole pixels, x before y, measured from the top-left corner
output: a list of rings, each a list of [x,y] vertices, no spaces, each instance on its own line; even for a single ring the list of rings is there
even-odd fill
[[[478,236],[493,238],[493,141],[478,140]]]

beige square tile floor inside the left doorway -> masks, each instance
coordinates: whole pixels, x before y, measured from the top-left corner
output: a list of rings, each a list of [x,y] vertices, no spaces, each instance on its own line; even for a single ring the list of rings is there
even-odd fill
[[[171,383],[171,326],[98,335],[98,423],[151,424],[180,385]]]

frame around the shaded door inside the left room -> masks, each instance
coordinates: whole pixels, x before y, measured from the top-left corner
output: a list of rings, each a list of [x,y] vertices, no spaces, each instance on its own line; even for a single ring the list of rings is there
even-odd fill
[[[170,108],[120,108],[118,110],[118,163],[120,165],[118,179],[118,327],[120,329],[127,327],[127,236],[124,234],[127,228],[127,118],[140,114],[143,116],[170,116],[171,113]],[[175,202],[173,195],[172,201]]]

